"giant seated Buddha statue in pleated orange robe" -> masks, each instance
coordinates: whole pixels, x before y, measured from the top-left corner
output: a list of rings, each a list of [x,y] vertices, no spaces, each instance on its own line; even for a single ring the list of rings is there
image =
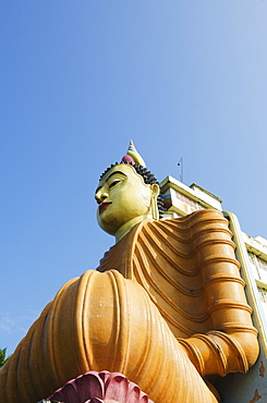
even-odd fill
[[[160,219],[158,182],[132,143],[95,198],[116,244],[31,327],[0,371],[0,402],[37,402],[90,370],[123,374],[155,403],[218,402],[210,379],[258,355],[227,219]]]

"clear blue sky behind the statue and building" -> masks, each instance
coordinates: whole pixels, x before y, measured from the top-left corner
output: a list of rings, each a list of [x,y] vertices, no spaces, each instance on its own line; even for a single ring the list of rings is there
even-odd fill
[[[0,347],[112,245],[94,191],[130,138],[267,237],[266,22],[264,0],[1,3]]]

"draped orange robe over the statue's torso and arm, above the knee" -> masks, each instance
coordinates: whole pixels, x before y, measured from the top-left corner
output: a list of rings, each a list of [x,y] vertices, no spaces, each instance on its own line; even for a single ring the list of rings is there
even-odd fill
[[[246,373],[258,355],[228,220],[220,211],[143,221],[97,270],[119,270],[148,293],[202,376]]]

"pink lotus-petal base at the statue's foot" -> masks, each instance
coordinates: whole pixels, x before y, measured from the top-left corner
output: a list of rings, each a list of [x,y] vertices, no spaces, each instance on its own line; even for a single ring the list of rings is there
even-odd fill
[[[64,403],[153,403],[120,373],[94,370],[66,382],[48,398]]]

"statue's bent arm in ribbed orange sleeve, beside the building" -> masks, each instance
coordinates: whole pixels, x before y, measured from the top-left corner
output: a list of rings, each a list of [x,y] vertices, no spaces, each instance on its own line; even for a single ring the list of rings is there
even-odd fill
[[[257,330],[230,237],[214,243],[202,278],[211,330],[179,341],[202,376],[246,373],[258,355]]]

